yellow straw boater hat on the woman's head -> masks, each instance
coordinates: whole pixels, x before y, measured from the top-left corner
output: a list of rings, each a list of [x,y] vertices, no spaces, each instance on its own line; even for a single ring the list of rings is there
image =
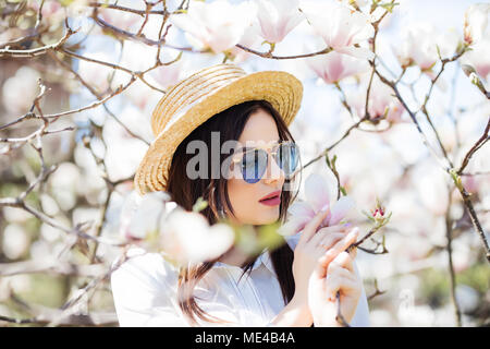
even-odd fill
[[[139,164],[134,184],[144,195],[166,191],[173,153],[191,132],[212,116],[247,100],[269,101],[290,125],[303,97],[303,85],[282,71],[247,74],[242,68],[216,64],[172,86],[151,115],[156,136]]]

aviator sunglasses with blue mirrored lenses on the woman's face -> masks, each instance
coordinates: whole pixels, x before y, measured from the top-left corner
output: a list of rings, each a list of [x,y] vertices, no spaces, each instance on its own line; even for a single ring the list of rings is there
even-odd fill
[[[286,180],[294,177],[294,171],[299,163],[299,148],[290,141],[238,149],[232,161],[234,166],[238,166],[244,181],[254,184],[264,177],[269,155],[284,172]]]

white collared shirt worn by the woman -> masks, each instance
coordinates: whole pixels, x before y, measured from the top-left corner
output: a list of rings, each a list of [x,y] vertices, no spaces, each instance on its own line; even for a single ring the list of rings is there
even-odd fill
[[[287,238],[292,249],[297,239],[298,234]],[[111,275],[120,326],[189,326],[177,303],[177,268],[159,253],[139,248],[132,248],[127,256]],[[199,325],[268,326],[281,312],[285,304],[268,251],[256,260],[250,274],[242,274],[241,267],[220,262],[206,273],[194,290],[196,302],[207,314],[230,323],[196,317]],[[364,288],[351,325],[369,326]]]

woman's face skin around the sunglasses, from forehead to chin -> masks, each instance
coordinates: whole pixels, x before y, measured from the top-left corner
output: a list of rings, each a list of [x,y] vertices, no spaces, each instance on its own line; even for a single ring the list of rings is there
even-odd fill
[[[274,119],[264,109],[250,115],[238,139],[243,146],[264,145],[280,142]],[[279,219],[279,204],[267,205],[260,200],[272,192],[281,191],[284,172],[269,156],[267,170],[256,183],[247,183],[243,178],[230,178],[228,192],[238,224],[266,225]]]

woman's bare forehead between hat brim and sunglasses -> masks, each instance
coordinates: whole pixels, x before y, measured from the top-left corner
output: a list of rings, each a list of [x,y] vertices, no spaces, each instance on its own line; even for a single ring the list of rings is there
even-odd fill
[[[262,109],[250,115],[238,137],[238,142],[246,147],[279,141],[279,131],[274,119],[269,112]]]

